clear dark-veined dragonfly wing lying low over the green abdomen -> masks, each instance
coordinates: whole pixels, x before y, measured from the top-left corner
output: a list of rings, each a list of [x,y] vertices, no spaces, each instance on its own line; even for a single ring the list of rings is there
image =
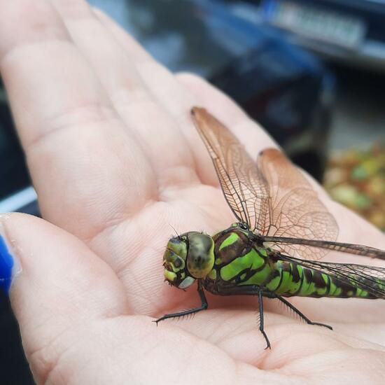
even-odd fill
[[[280,255],[279,258],[288,262],[295,262],[302,267],[316,269],[385,300],[385,267],[300,260],[286,255]]]

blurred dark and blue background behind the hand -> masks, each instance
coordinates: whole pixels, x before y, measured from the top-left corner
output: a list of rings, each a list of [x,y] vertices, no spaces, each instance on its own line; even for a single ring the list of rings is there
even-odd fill
[[[228,93],[335,200],[385,231],[385,0],[89,3],[170,70]],[[39,214],[2,83],[0,178],[0,212]],[[33,384],[6,295],[0,330],[1,384]]]

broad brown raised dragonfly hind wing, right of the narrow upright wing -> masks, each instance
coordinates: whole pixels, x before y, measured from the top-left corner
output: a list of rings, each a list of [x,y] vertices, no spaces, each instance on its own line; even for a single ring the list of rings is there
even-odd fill
[[[269,186],[270,210],[262,235],[268,237],[301,238],[302,240],[335,241],[338,225],[319,200],[305,176],[281,151],[269,148],[258,156],[258,169]],[[304,259],[319,259],[327,248],[304,243],[281,243],[274,248]]]

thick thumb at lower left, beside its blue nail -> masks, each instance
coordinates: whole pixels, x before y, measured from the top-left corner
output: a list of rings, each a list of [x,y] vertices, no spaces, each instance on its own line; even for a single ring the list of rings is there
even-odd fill
[[[55,225],[10,214],[0,218],[0,237],[22,267],[10,298],[27,358],[42,384],[85,330],[128,314],[130,307],[111,268]]]

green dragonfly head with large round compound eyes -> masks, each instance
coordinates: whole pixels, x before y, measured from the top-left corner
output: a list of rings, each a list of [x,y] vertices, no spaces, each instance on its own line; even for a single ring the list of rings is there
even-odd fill
[[[173,237],[163,255],[165,279],[177,288],[188,288],[214,267],[214,240],[202,232],[185,232]]]

